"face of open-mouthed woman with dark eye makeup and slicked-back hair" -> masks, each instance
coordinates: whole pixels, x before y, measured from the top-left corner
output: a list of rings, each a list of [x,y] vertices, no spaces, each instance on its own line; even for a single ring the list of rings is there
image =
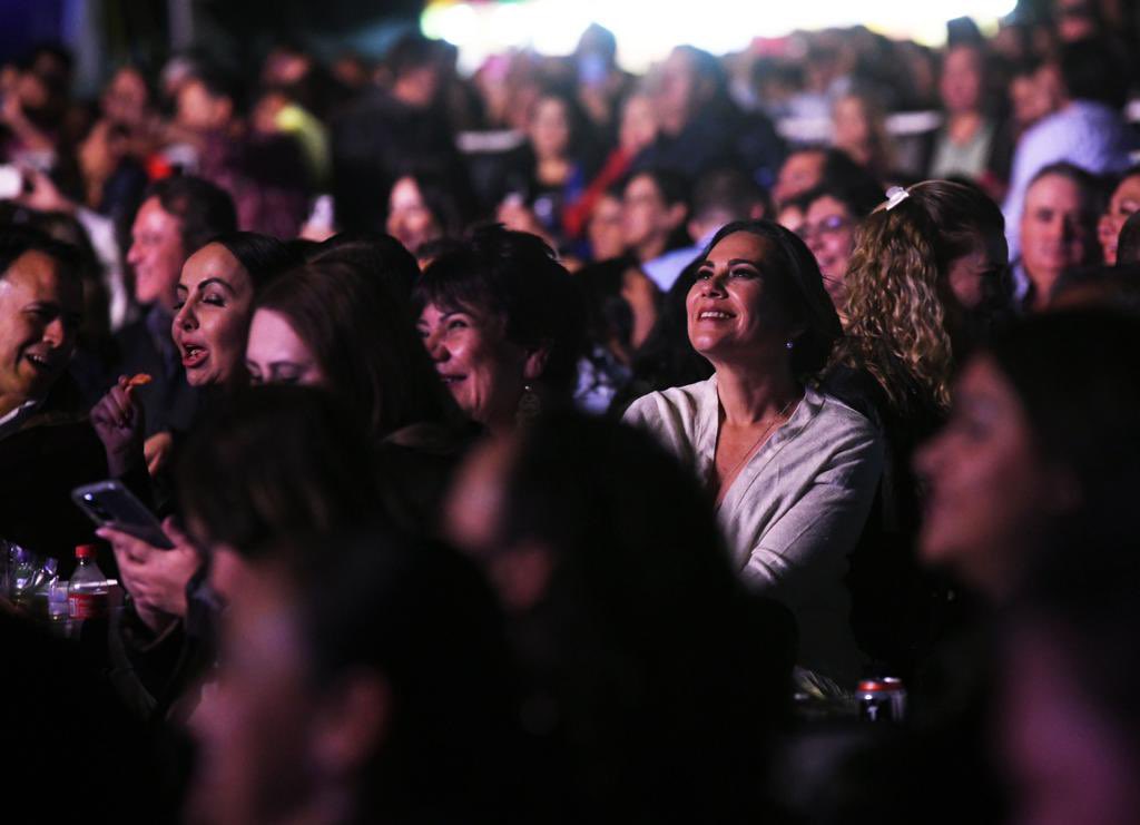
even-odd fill
[[[244,378],[245,342],[253,310],[253,281],[221,244],[190,255],[178,281],[171,327],[192,386]]]

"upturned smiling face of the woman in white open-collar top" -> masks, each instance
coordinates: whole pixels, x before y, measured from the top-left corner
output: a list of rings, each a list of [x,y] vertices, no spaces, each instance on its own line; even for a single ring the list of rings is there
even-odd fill
[[[685,302],[689,340],[709,360],[750,360],[787,350],[795,324],[772,242],[733,232],[709,250]]]

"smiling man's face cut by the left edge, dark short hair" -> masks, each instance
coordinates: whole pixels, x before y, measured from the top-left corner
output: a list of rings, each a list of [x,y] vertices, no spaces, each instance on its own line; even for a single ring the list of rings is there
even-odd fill
[[[0,412],[43,398],[75,350],[83,292],[58,266],[28,251],[0,276]]]

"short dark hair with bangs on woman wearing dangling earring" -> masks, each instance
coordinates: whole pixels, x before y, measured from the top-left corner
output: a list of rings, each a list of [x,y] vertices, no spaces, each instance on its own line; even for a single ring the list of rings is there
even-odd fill
[[[546,348],[540,383],[569,397],[583,349],[581,293],[542,238],[499,224],[475,229],[462,247],[437,258],[413,292],[416,315],[471,308],[503,325],[507,341]]]

